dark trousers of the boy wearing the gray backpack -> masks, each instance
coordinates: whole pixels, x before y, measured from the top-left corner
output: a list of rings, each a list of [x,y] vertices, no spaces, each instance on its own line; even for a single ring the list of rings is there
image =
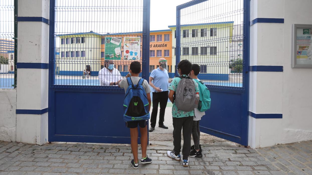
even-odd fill
[[[192,134],[192,124],[193,116],[172,118],[173,121],[173,151],[175,155],[179,155],[181,152],[181,130],[183,129],[183,148],[182,154],[183,159],[187,160],[190,155],[191,149],[191,134]]]

